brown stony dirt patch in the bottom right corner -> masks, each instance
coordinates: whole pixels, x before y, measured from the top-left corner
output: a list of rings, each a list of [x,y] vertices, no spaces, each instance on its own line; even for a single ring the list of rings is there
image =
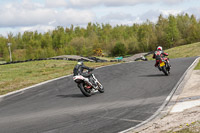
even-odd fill
[[[184,110],[180,113],[170,113],[148,124],[144,129],[132,132],[139,133],[165,133],[175,132],[187,128],[193,122],[200,121],[200,106]]]

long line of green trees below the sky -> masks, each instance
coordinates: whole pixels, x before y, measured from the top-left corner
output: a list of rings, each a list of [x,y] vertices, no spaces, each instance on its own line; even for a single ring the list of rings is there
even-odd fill
[[[13,60],[48,58],[57,55],[94,56],[98,49],[105,56],[124,56],[165,49],[200,41],[200,21],[194,15],[163,17],[131,26],[88,23],[86,28],[58,26],[52,31],[0,36],[0,60],[9,61],[7,43],[11,43]]]

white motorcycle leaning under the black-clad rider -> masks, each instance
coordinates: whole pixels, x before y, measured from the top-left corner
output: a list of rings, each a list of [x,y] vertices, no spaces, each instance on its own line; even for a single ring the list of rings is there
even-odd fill
[[[89,73],[90,71],[87,72]],[[96,79],[94,74],[92,74],[90,78],[91,79],[88,79],[82,75],[77,75],[73,77],[73,80],[77,83],[79,89],[86,97],[90,97],[96,90],[98,90],[100,93],[104,93],[103,85]],[[92,80],[93,83],[91,83],[90,80]]]

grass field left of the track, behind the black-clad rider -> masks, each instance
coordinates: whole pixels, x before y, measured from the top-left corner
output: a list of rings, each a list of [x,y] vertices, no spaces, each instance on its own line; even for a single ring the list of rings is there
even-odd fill
[[[72,74],[76,61],[46,60],[0,66],[0,95],[46,80]],[[85,62],[89,67],[116,64]]]

